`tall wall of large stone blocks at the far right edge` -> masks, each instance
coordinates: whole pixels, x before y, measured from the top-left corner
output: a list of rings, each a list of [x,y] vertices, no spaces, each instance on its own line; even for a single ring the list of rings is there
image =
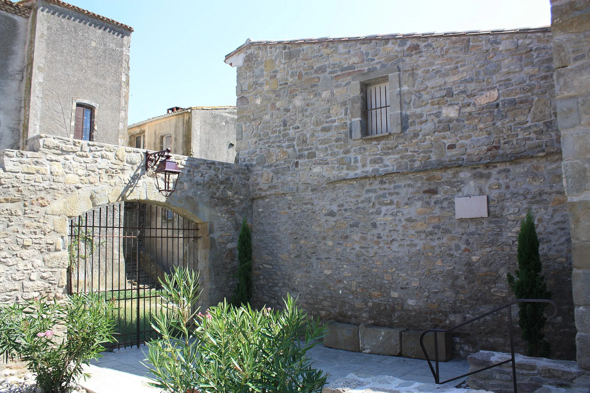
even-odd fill
[[[577,359],[590,368],[590,1],[552,0],[555,91],[573,248]]]

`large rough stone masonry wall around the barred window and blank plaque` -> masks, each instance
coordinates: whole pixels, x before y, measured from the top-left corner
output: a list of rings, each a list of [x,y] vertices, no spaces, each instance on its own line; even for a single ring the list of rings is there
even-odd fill
[[[228,55],[239,162],[251,166],[255,303],[291,293],[322,320],[454,326],[513,299],[506,273],[532,209],[560,306],[547,336],[553,357],[573,359],[551,39],[539,28],[250,41]],[[366,137],[363,89],[383,78],[392,132]],[[454,198],[474,195],[489,217],[456,220]],[[507,351],[505,319],[455,335],[455,356]]]

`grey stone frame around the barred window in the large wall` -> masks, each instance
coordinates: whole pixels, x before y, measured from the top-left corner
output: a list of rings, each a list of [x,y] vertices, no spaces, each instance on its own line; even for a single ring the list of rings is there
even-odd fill
[[[399,69],[383,68],[353,76],[350,82],[350,139],[372,139],[402,132],[401,83]],[[389,122],[387,133],[368,135],[366,88],[372,84],[389,82]]]

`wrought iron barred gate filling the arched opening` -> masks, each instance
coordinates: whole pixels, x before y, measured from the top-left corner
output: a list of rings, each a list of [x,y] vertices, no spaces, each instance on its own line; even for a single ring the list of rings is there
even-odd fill
[[[113,348],[139,346],[156,337],[150,321],[162,309],[159,279],[174,266],[196,270],[198,238],[195,222],[155,205],[95,208],[70,220],[68,290],[116,302]]]

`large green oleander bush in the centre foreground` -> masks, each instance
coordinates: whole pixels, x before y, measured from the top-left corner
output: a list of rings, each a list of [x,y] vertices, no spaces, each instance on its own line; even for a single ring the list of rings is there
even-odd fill
[[[306,352],[325,328],[292,297],[282,310],[224,301],[199,313],[195,273],[177,269],[162,285],[175,305],[156,317],[153,327],[161,338],[148,343],[156,387],[173,393],[322,391],[326,375],[313,368]]]

